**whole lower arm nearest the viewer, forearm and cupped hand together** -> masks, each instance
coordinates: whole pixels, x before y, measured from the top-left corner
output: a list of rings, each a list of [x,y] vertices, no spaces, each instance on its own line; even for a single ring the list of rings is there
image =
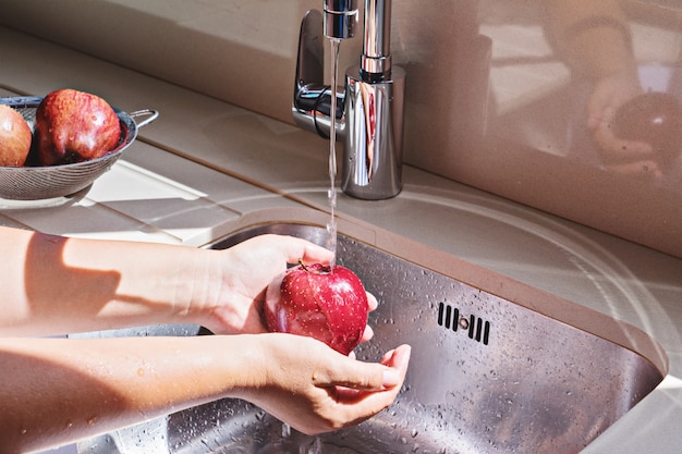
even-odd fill
[[[224,397],[330,431],[388,407],[409,356],[401,346],[361,363],[279,333],[0,339],[0,451],[42,451]]]

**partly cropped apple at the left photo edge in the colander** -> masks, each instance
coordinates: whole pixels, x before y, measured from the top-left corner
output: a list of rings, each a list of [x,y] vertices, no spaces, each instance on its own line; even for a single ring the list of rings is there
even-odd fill
[[[31,127],[24,116],[11,107],[0,105],[0,165],[24,165],[31,139]]]

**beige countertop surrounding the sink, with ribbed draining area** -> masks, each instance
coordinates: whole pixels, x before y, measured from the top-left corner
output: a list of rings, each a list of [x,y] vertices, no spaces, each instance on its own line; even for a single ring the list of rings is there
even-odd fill
[[[89,191],[0,200],[1,223],[202,246],[268,221],[327,222],[322,139],[27,35],[0,28],[0,95],[73,87],[129,112],[160,111]],[[552,317],[580,318],[580,305],[642,329],[663,346],[670,375],[584,452],[679,452],[682,260],[414,168],[404,184],[383,201],[340,194],[340,229],[511,299],[547,295],[553,305],[534,308]]]

